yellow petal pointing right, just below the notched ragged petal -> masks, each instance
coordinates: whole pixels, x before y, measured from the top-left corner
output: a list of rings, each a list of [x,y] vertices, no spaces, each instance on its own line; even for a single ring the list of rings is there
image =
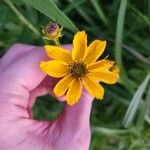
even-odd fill
[[[90,77],[98,79],[99,81],[108,83],[108,84],[115,84],[119,78],[119,75],[115,72],[90,72],[88,74]]]

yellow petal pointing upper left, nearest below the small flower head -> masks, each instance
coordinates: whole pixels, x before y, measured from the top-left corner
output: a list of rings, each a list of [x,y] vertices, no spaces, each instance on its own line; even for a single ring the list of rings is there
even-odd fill
[[[64,48],[52,45],[45,45],[44,48],[47,52],[47,55],[53,59],[65,62],[70,62],[72,60],[71,53]]]

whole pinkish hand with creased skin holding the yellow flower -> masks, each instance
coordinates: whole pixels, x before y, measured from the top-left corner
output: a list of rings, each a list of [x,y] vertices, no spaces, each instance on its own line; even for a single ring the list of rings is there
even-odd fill
[[[36,97],[56,84],[39,70],[47,59],[43,48],[23,44],[13,45],[0,59],[0,150],[88,150],[93,98],[86,91],[56,121],[32,119]]]

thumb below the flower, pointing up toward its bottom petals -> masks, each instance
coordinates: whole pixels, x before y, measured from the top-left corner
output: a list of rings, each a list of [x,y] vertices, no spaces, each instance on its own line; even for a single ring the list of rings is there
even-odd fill
[[[61,142],[67,141],[64,149],[68,149],[70,146],[72,150],[88,150],[91,138],[90,112],[92,99],[93,97],[83,91],[79,102],[73,106],[66,105],[64,112],[54,122],[60,139],[59,145],[64,145]]]

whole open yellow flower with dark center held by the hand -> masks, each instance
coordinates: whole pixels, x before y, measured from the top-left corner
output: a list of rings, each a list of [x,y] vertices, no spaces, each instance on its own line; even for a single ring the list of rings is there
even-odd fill
[[[72,51],[58,46],[44,47],[53,60],[41,62],[40,68],[49,76],[62,78],[54,87],[54,93],[58,97],[66,94],[69,105],[80,99],[82,85],[92,96],[103,99],[104,89],[98,82],[114,84],[118,80],[118,73],[110,71],[113,61],[102,59],[96,62],[104,52],[106,41],[95,40],[87,47],[85,31],[75,34]]]

